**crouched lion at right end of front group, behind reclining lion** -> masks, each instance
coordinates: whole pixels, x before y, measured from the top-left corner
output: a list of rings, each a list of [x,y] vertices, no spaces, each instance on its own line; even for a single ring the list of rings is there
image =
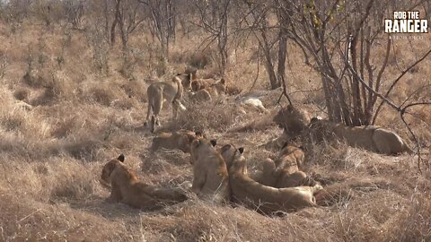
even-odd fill
[[[263,169],[259,183],[277,188],[294,186],[314,186],[312,177],[308,177],[302,170],[304,154],[301,147],[288,145],[281,149],[276,160],[267,159],[263,162]]]

